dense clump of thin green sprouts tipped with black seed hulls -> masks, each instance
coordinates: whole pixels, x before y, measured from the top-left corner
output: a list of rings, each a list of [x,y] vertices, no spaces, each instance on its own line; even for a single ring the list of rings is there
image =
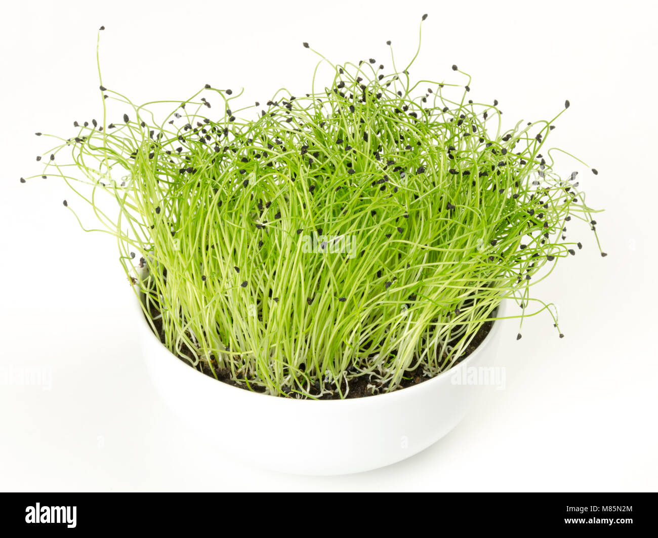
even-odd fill
[[[557,176],[542,149],[564,109],[502,130],[457,66],[466,85],[321,62],[335,76],[312,93],[244,107],[207,84],[160,119],[101,80],[102,122],[45,153],[42,174],[118,238],[164,345],[250,389],[345,397],[357,378],[386,392],[446,370],[501,299],[557,328],[530,287],[582,247],[569,220],[596,224],[576,172]],[[124,105],[118,121],[105,99]]]

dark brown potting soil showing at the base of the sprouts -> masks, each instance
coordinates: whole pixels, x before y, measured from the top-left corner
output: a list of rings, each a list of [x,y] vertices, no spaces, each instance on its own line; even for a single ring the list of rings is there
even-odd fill
[[[157,313],[157,312],[156,312]],[[155,317],[155,316],[154,316]],[[162,324],[160,320],[153,320],[153,324],[155,324],[155,328],[158,331],[158,336],[160,340],[164,343],[164,338],[163,338],[163,331],[162,331]],[[470,341],[470,344],[468,344],[467,348],[465,349],[464,353],[457,357],[452,366],[455,366],[456,364],[459,364],[462,360],[467,358],[468,355],[473,353],[478,346],[482,343],[482,341],[486,338],[486,335],[488,335],[489,331],[491,330],[493,326],[493,322],[486,322],[480,327],[480,330],[475,334],[473,339]],[[456,342],[455,342],[456,343]],[[194,355],[188,349],[187,347],[183,349],[183,352],[185,353],[186,356],[190,357],[193,359]],[[190,365],[190,362],[186,360],[183,357],[178,357],[180,360],[185,362],[186,364]],[[222,383],[226,383],[227,385],[232,385],[234,387],[238,387],[240,389],[245,389],[245,390],[253,390],[254,392],[265,392],[265,389],[263,387],[259,387],[258,385],[251,385],[251,389],[249,386],[247,386],[247,383],[245,382],[238,382],[235,381],[235,379],[231,378],[231,371],[228,368],[217,368],[216,363],[213,364],[215,367],[215,372],[217,374],[217,379],[221,381]],[[451,367],[452,367],[451,366]],[[194,368],[191,366],[191,368]],[[215,376],[213,375],[213,372],[211,370],[211,367],[209,364],[206,364],[205,362],[199,362],[195,368],[195,370],[198,370],[199,372],[205,374],[206,376],[209,376],[213,379],[215,379]],[[409,372],[405,373],[405,378],[402,379],[399,387],[395,389],[396,391],[405,389],[407,387],[413,387],[413,385],[418,385],[419,383],[422,383],[423,381],[428,381],[428,378],[426,376],[422,375],[422,365],[418,366],[415,370],[411,370]],[[370,389],[368,389],[368,385],[371,385]],[[372,385],[374,385],[376,388],[385,388],[382,386],[381,383],[378,383],[378,381],[370,381],[366,376],[363,376],[361,378],[354,378],[349,380],[349,392],[347,393],[347,396],[345,397],[346,399],[349,398],[362,398],[362,397],[367,397],[367,396],[372,396]],[[347,381],[343,379],[342,385],[340,387],[341,391],[345,393],[347,390]],[[315,391],[315,387],[311,387],[311,390],[309,391],[311,395],[313,395],[313,392]],[[318,391],[319,392],[319,391]],[[340,399],[340,394],[338,391],[334,391],[333,395],[322,395],[320,397],[316,397],[318,400],[339,400]]]

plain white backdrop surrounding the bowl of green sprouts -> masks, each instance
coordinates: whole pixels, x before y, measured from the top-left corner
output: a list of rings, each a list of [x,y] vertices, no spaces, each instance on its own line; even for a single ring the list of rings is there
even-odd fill
[[[613,7],[614,6],[614,7]],[[279,87],[305,93],[316,59],[411,58],[411,74],[473,76],[473,99],[500,101],[507,120],[551,118],[551,134],[598,176],[581,186],[603,248],[584,244],[535,295],[559,305],[505,327],[505,390],[486,389],[430,449],[343,477],[262,472],[209,451],[163,407],[138,351],[130,290],[113,241],[84,233],[69,196],[38,174],[34,132],[70,135],[99,116],[103,84],[133,101],[187,97],[206,82],[245,87],[245,103]],[[0,368],[44,368],[51,388],[0,386],[3,490],[654,490],[655,4],[610,2],[79,2],[3,6],[0,33]],[[401,60],[400,60],[401,63]],[[458,79],[457,79],[458,80]],[[574,166],[565,164],[565,166]],[[569,173],[571,170],[562,170]],[[191,405],[192,408],[192,405]],[[221,428],[221,413],[209,414]]]

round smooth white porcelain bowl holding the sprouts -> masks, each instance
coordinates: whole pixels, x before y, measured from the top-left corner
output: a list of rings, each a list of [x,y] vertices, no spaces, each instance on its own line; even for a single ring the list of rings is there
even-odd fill
[[[497,316],[505,316],[505,301]],[[493,366],[500,329],[501,321],[494,322],[474,353],[436,378],[392,393],[329,401],[263,395],[209,378],[172,355],[146,320],[139,339],[164,401],[211,446],[270,470],[332,475],[399,462],[455,428],[479,387],[459,383],[466,379],[462,370]]]

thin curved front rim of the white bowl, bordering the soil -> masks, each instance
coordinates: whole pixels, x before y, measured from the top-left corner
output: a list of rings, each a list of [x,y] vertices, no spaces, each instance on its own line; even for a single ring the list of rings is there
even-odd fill
[[[135,290],[138,291],[137,287],[135,287]],[[380,403],[384,403],[384,398],[386,398],[386,403],[393,403],[395,400],[394,399],[403,399],[403,398],[408,398],[408,397],[413,397],[414,395],[420,395],[423,391],[428,391],[431,390],[434,385],[438,385],[438,383],[442,382],[443,379],[447,378],[448,374],[452,375],[455,374],[455,372],[461,370],[462,368],[466,368],[467,364],[469,362],[472,362],[472,359],[478,355],[482,355],[482,353],[485,353],[486,348],[492,343],[492,341],[495,339],[496,335],[501,331],[501,322],[503,320],[509,319],[509,316],[506,316],[507,314],[507,309],[508,305],[507,303],[509,302],[509,299],[503,298],[501,299],[501,302],[497,306],[497,310],[495,312],[496,316],[493,318],[493,326],[491,330],[488,332],[486,337],[484,337],[484,340],[480,342],[478,347],[470,353],[464,360],[459,362],[459,364],[455,364],[452,368],[448,368],[447,370],[444,370],[440,374],[434,376],[431,379],[427,379],[427,381],[422,381],[422,383],[417,383],[415,385],[411,385],[411,387],[404,387],[403,389],[399,389],[393,392],[388,392],[388,393],[382,393],[382,394],[376,394],[372,396],[363,396],[363,397],[358,397],[358,398],[347,398],[347,399],[337,399],[337,400],[314,400],[311,398],[307,399],[296,399],[296,398],[281,398],[277,396],[273,396],[270,394],[265,394],[265,393],[259,393],[255,391],[249,391],[247,389],[242,389],[240,387],[235,387],[234,385],[229,385],[228,383],[224,383],[223,381],[219,381],[218,379],[213,379],[210,376],[207,376],[206,374],[203,374],[203,372],[199,372],[199,370],[196,370],[196,368],[192,368],[190,364],[186,364],[183,360],[180,360],[176,355],[171,353],[166,347],[164,347],[163,343],[159,339],[159,337],[151,330],[151,326],[147,322],[146,319],[146,314],[143,310],[143,307],[141,306],[141,298],[138,298],[136,301],[136,308],[138,309],[138,314],[140,318],[140,324],[141,327],[139,329],[140,333],[148,333],[147,338],[150,339],[151,343],[153,345],[157,345],[158,347],[161,348],[161,351],[163,353],[166,353],[166,355],[170,355],[172,358],[175,360],[172,361],[172,364],[180,364],[179,366],[173,366],[173,368],[179,368],[180,374],[182,376],[188,376],[189,379],[192,379],[190,376],[196,376],[198,379],[199,383],[213,383],[214,386],[218,387],[219,391],[229,391],[227,392],[228,394],[234,395],[236,398],[255,398],[259,397],[261,398],[261,402],[263,403],[270,403],[272,405],[322,405],[322,406],[328,406],[328,405],[342,405],[342,406],[362,406],[362,405],[376,405]],[[139,336],[139,339],[143,338],[143,335]],[[183,374],[182,372],[186,370],[188,371],[187,374]],[[209,385],[207,385],[209,386]],[[232,392],[230,392],[232,391]],[[255,403],[257,401],[251,400],[252,403]]]

